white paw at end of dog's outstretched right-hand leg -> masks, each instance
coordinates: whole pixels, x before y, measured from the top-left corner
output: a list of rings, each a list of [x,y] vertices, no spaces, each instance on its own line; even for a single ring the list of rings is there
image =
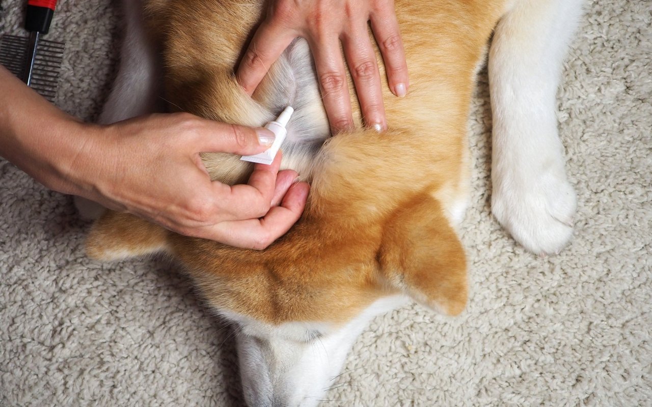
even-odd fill
[[[526,169],[512,167],[493,175],[492,212],[527,250],[539,255],[559,253],[571,240],[575,191],[566,179],[563,161],[554,169],[529,164]]]

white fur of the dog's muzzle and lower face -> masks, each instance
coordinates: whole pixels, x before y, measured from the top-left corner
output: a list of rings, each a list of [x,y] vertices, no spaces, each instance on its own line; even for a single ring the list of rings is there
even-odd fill
[[[315,406],[333,386],[355,339],[376,315],[408,302],[391,296],[374,302],[346,325],[261,323],[232,313],[244,398],[249,406]]]

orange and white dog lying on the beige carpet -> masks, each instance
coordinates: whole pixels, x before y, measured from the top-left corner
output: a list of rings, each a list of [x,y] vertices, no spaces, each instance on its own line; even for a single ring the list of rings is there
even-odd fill
[[[262,1],[124,3],[123,63],[104,122],[153,109],[154,48],[175,109],[261,126],[295,108],[282,166],[311,193],[297,225],[268,249],[188,238],[116,212],[96,221],[87,242],[96,259],[166,252],[181,261],[207,303],[237,326],[250,406],[316,405],[366,322],[406,300],[445,315],[464,309],[466,260],[454,227],[469,195],[467,113],[492,33],[494,215],[531,251],[554,253],[569,240],[576,201],[555,93],[580,0],[397,0],[410,92],[385,94],[386,132],[365,130],[358,111],[357,130],[333,137],[303,39],[254,98],[237,85],[233,70]],[[203,160],[222,182],[251,171],[230,154]]]

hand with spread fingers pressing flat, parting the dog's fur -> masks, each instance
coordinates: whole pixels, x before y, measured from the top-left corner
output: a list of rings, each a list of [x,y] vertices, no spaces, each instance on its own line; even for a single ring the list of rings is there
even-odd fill
[[[376,54],[367,21],[378,42],[389,88],[396,96],[408,91],[408,65],[393,0],[276,0],[252,38],[237,79],[253,94],[267,70],[297,36],[308,40],[333,132],[353,126],[346,70],[340,41],[353,77],[366,124],[387,128]]]

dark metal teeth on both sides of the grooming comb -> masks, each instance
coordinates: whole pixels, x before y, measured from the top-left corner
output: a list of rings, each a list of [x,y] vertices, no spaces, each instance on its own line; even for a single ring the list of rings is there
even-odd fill
[[[0,44],[0,64],[20,79],[25,77],[28,39],[15,35],[3,35]],[[39,40],[32,70],[31,88],[54,103],[59,86],[59,70],[63,61],[64,44]]]

